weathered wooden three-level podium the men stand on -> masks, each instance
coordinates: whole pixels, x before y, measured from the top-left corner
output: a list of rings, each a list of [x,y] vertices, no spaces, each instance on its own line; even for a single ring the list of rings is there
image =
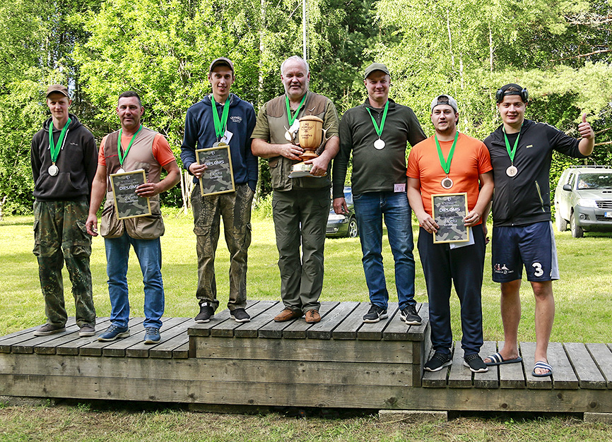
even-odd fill
[[[612,412],[612,345],[551,343],[553,378],[531,376],[534,344],[523,364],[472,374],[460,345],[448,370],[423,374],[430,354],[427,304],[422,325],[389,318],[365,324],[369,304],[324,302],[322,321],[275,323],[278,301],[249,301],[249,323],[221,311],[209,323],[164,318],[162,342],[144,345],[143,318],[114,342],[35,328],[0,337],[0,395],[186,402],[208,405],[343,407],[376,410]],[[98,318],[96,330],[110,325]],[[485,342],[481,355],[495,352]]]

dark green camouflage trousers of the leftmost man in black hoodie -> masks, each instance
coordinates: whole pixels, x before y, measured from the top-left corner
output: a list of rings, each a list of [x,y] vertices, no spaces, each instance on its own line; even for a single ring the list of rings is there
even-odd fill
[[[64,306],[66,268],[72,283],[79,327],[95,325],[89,256],[91,237],[86,233],[87,201],[35,201],[34,254],[38,258],[40,288],[45,297],[47,322],[63,326],[68,315]]]

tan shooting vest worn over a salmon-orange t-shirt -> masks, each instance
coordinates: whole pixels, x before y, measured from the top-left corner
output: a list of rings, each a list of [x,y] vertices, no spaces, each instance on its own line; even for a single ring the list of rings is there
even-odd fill
[[[162,166],[153,156],[153,141],[158,133],[143,127],[136,136],[129,153],[123,162],[126,172],[144,169],[148,182],[158,183]],[[151,215],[128,220],[117,219],[117,209],[114,207],[112,187],[110,185],[110,174],[115,174],[121,168],[119,155],[117,153],[117,139],[119,131],[110,133],[104,144],[104,158],[106,160],[107,193],[106,203],[102,210],[100,222],[100,234],[105,238],[119,238],[124,232],[136,239],[155,239],[164,234],[164,223],[160,211],[159,195],[149,198],[151,202]]]

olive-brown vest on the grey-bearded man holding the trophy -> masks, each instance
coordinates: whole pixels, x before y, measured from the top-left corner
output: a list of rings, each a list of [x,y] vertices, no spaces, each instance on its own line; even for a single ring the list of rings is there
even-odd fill
[[[300,109],[298,119],[305,115],[314,115],[324,121],[325,127],[325,111],[327,97],[315,94],[314,92],[306,92],[308,96]],[[287,116],[287,106],[285,102],[285,94],[273,98],[266,104],[266,117],[268,119],[268,127],[270,133],[271,144],[287,144],[285,138],[286,128],[289,126]],[[320,153],[317,151],[317,153]],[[268,159],[270,167],[270,175],[272,177],[272,189],[276,191],[290,191],[293,188],[298,189],[324,189],[331,186],[329,174],[322,178],[289,178],[291,167],[300,161],[289,160],[286,157],[278,156]]]

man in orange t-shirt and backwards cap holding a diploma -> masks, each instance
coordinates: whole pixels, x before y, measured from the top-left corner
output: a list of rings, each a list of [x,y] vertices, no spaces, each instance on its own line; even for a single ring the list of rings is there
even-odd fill
[[[427,285],[431,342],[435,351],[425,370],[439,371],[452,364],[449,299],[454,283],[461,301],[464,365],[479,373],[487,371],[478,355],[483,345],[481,288],[486,249],[481,224],[493,196],[493,167],[484,143],[457,131],[459,112],[453,97],[435,97],[431,121],[435,135],[412,148],[406,172],[408,201],[420,225],[418,251]],[[434,243],[433,235],[440,226],[432,213],[431,196],[464,192],[468,208],[464,225],[474,227],[470,229],[470,240]]]

